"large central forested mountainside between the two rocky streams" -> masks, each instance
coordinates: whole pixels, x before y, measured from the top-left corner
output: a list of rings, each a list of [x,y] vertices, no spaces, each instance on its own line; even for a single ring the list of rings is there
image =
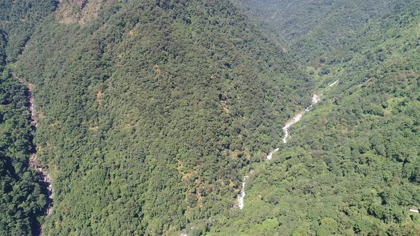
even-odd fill
[[[44,233],[206,232],[313,82],[229,1],[61,4],[16,63],[54,179]]]

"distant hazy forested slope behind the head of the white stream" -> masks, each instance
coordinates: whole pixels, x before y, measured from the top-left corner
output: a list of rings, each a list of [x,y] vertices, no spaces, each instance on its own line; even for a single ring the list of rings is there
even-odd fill
[[[295,60],[320,59],[369,32],[404,1],[236,0]]]

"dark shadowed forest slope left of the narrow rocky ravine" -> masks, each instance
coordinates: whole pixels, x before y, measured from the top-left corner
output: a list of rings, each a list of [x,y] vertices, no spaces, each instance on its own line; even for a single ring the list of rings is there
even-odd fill
[[[0,235],[32,235],[47,204],[40,176],[28,168],[33,136],[26,90],[2,73],[0,94]]]

